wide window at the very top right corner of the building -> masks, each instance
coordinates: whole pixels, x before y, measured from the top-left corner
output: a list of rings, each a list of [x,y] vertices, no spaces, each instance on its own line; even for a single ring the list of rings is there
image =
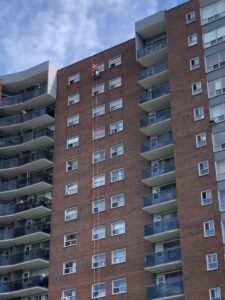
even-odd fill
[[[225,16],[225,1],[216,1],[216,3],[203,7],[201,9],[202,24],[215,21]]]

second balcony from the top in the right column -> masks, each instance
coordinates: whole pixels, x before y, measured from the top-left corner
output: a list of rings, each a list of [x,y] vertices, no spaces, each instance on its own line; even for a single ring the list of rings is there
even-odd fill
[[[168,81],[168,61],[161,61],[141,71],[138,83],[145,89]]]

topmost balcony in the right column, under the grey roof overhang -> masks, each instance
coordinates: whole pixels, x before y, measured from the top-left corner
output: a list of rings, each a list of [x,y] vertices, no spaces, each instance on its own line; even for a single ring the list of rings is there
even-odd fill
[[[167,57],[167,38],[153,41],[150,45],[137,51],[137,61],[144,67],[149,66],[152,62],[163,60]]]

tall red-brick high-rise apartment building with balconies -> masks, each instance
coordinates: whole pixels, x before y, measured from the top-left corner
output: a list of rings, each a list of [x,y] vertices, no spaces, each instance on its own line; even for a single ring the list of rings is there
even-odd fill
[[[135,35],[2,77],[0,300],[225,297],[225,1]]]

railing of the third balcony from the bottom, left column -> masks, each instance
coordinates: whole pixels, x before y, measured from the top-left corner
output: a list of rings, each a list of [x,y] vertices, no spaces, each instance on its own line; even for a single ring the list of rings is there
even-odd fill
[[[29,224],[26,226],[15,227],[11,229],[0,230],[0,240],[15,239],[36,232],[50,233],[49,223]]]

